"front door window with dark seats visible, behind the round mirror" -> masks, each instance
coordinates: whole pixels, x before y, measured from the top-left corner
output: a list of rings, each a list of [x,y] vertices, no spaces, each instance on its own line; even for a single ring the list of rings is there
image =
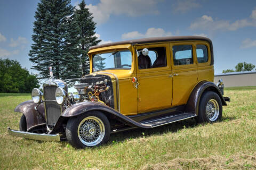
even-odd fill
[[[139,69],[151,69],[167,66],[165,47],[148,48],[148,51],[147,56],[144,56],[142,52],[138,52]]]

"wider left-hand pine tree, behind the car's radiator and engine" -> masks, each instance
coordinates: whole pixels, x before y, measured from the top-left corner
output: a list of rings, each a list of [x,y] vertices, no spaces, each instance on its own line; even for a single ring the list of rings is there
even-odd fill
[[[28,55],[29,60],[34,63],[32,69],[39,72],[39,78],[49,78],[49,66],[53,67],[55,78],[63,78],[62,75],[67,70],[66,61],[71,56],[76,57],[76,43],[70,43],[72,33],[69,20],[73,13],[74,7],[70,0],[41,0],[38,3],[32,35],[34,44]],[[73,30],[74,32],[76,31]],[[74,67],[73,70],[77,68]]]

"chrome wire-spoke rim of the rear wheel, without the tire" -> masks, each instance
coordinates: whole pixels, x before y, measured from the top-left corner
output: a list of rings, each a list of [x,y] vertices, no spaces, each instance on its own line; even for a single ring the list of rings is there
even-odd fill
[[[215,99],[211,99],[208,101],[206,105],[206,115],[211,122],[214,122],[218,119],[219,116],[219,104]]]

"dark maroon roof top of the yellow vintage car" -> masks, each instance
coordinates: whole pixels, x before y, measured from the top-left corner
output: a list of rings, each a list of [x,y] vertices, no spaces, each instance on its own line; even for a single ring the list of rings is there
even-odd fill
[[[212,46],[212,41],[209,38],[201,37],[201,36],[169,36],[169,37],[153,37],[153,38],[141,38],[141,39],[133,39],[133,40],[125,40],[125,41],[118,41],[114,43],[107,43],[107,44],[101,44],[97,46],[92,46],[89,48],[96,49],[101,47],[108,47],[108,46],[115,46],[115,45],[123,45],[123,44],[146,44],[146,43],[159,43],[159,42],[165,42],[165,41],[186,41],[186,40],[203,40],[210,43],[210,46]]]

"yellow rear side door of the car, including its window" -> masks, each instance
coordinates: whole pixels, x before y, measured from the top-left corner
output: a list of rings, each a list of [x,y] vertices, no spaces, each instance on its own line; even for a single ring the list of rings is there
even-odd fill
[[[171,43],[173,69],[172,106],[185,105],[198,82],[197,62],[193,42]]]

